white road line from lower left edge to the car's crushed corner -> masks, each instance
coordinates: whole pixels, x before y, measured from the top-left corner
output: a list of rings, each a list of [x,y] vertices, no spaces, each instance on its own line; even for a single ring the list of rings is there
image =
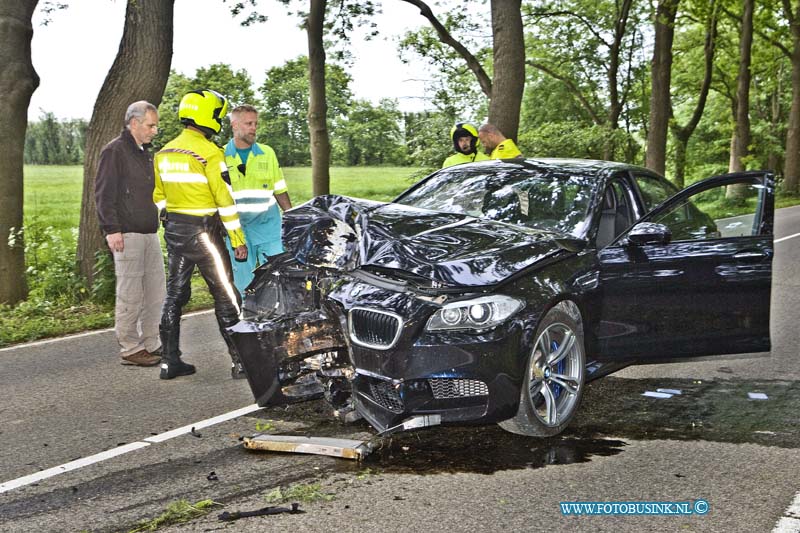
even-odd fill
[[[51,478],[53,476],[57,476],[59,474],[63,474],[64,472],[77,470],[79,468],[83,468],[84,466],[93,465],[95,463],[105,461],[106,459],[112,459],[114,457],[124,455],[128,452],[139,450],[141,448],[146,448],[151,444],[164,442],[174,437],[185,435],[191,432],[192,428],[200,429],[213,426],[214,424],[219,424],[220,422],[226,422],[228,420],[232,420],[234,418],[238,418],[240,416],[253,413],[255,411],[258,411],[259,409],[261,408],[257,404],[248,405],[247,407],[242,407],[241,409],[237,409],[229,413],[215,416],[213,418],[207,418],[205,420],[201,420],[200,422],[195,422],[194,424],[189,424],[177,429],[161,433],[160,435],[147,437],[146,439],[142,439],[142,441],[139,442],[132,442],[130,444],[125,444],[124,446],[112,448],[111,450],[106,450],[104,452],[96,453],[94,455],[90,455],[89,457],[84,457],[82,459],[76,459],[74,461],[70,461],[69,463],[64,463],[63,465],[54,466],[53,468],[48,468],[47,470],[36,472],[35,474],[30,474],[17,479],[12,479],[11,481],[0,483],[0,494],[7,492],[9,490],[14,490],[20,487],[24,487],[25,485],[30,485],[32,483],[42,481],[47,478]]]

